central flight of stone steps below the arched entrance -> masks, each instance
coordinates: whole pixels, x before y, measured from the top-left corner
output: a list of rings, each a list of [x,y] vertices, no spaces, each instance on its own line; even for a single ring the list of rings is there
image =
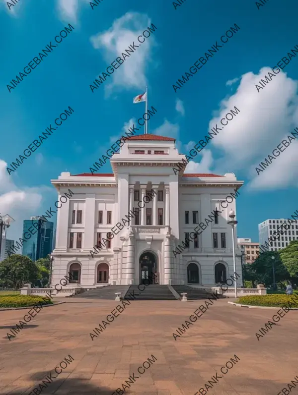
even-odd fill
[[[138,289],[138,286],[140,289]],[[144,291],[142,290],[144,288]],[[130,294],[135,296],[129,296]],[[177,300],[168,285],[130,285],[126,294],[122,294],[124,300]]]

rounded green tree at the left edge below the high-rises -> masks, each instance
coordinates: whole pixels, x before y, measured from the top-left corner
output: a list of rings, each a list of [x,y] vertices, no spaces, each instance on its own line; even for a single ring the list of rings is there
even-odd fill
[[[20,288],[26,282],[35,283],[38,266],[24,255],[13,254],[0,262],[0,286]]]

